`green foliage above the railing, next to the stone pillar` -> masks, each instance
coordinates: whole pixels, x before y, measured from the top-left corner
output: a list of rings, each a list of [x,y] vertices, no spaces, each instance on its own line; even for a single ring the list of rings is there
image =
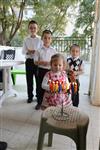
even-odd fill
[[[95,14],[95,0],[81,0],[73,36],[92,36]],[[81,32],[80,33],[80,29]]]

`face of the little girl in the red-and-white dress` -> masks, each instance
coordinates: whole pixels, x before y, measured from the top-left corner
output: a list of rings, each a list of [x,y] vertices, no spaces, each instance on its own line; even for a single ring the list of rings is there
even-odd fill
[[[51,69],[53,72],[60,72],[63,70],[63,68],[64,68],[64,64],[62,59],[55,60],[51,64]]]

